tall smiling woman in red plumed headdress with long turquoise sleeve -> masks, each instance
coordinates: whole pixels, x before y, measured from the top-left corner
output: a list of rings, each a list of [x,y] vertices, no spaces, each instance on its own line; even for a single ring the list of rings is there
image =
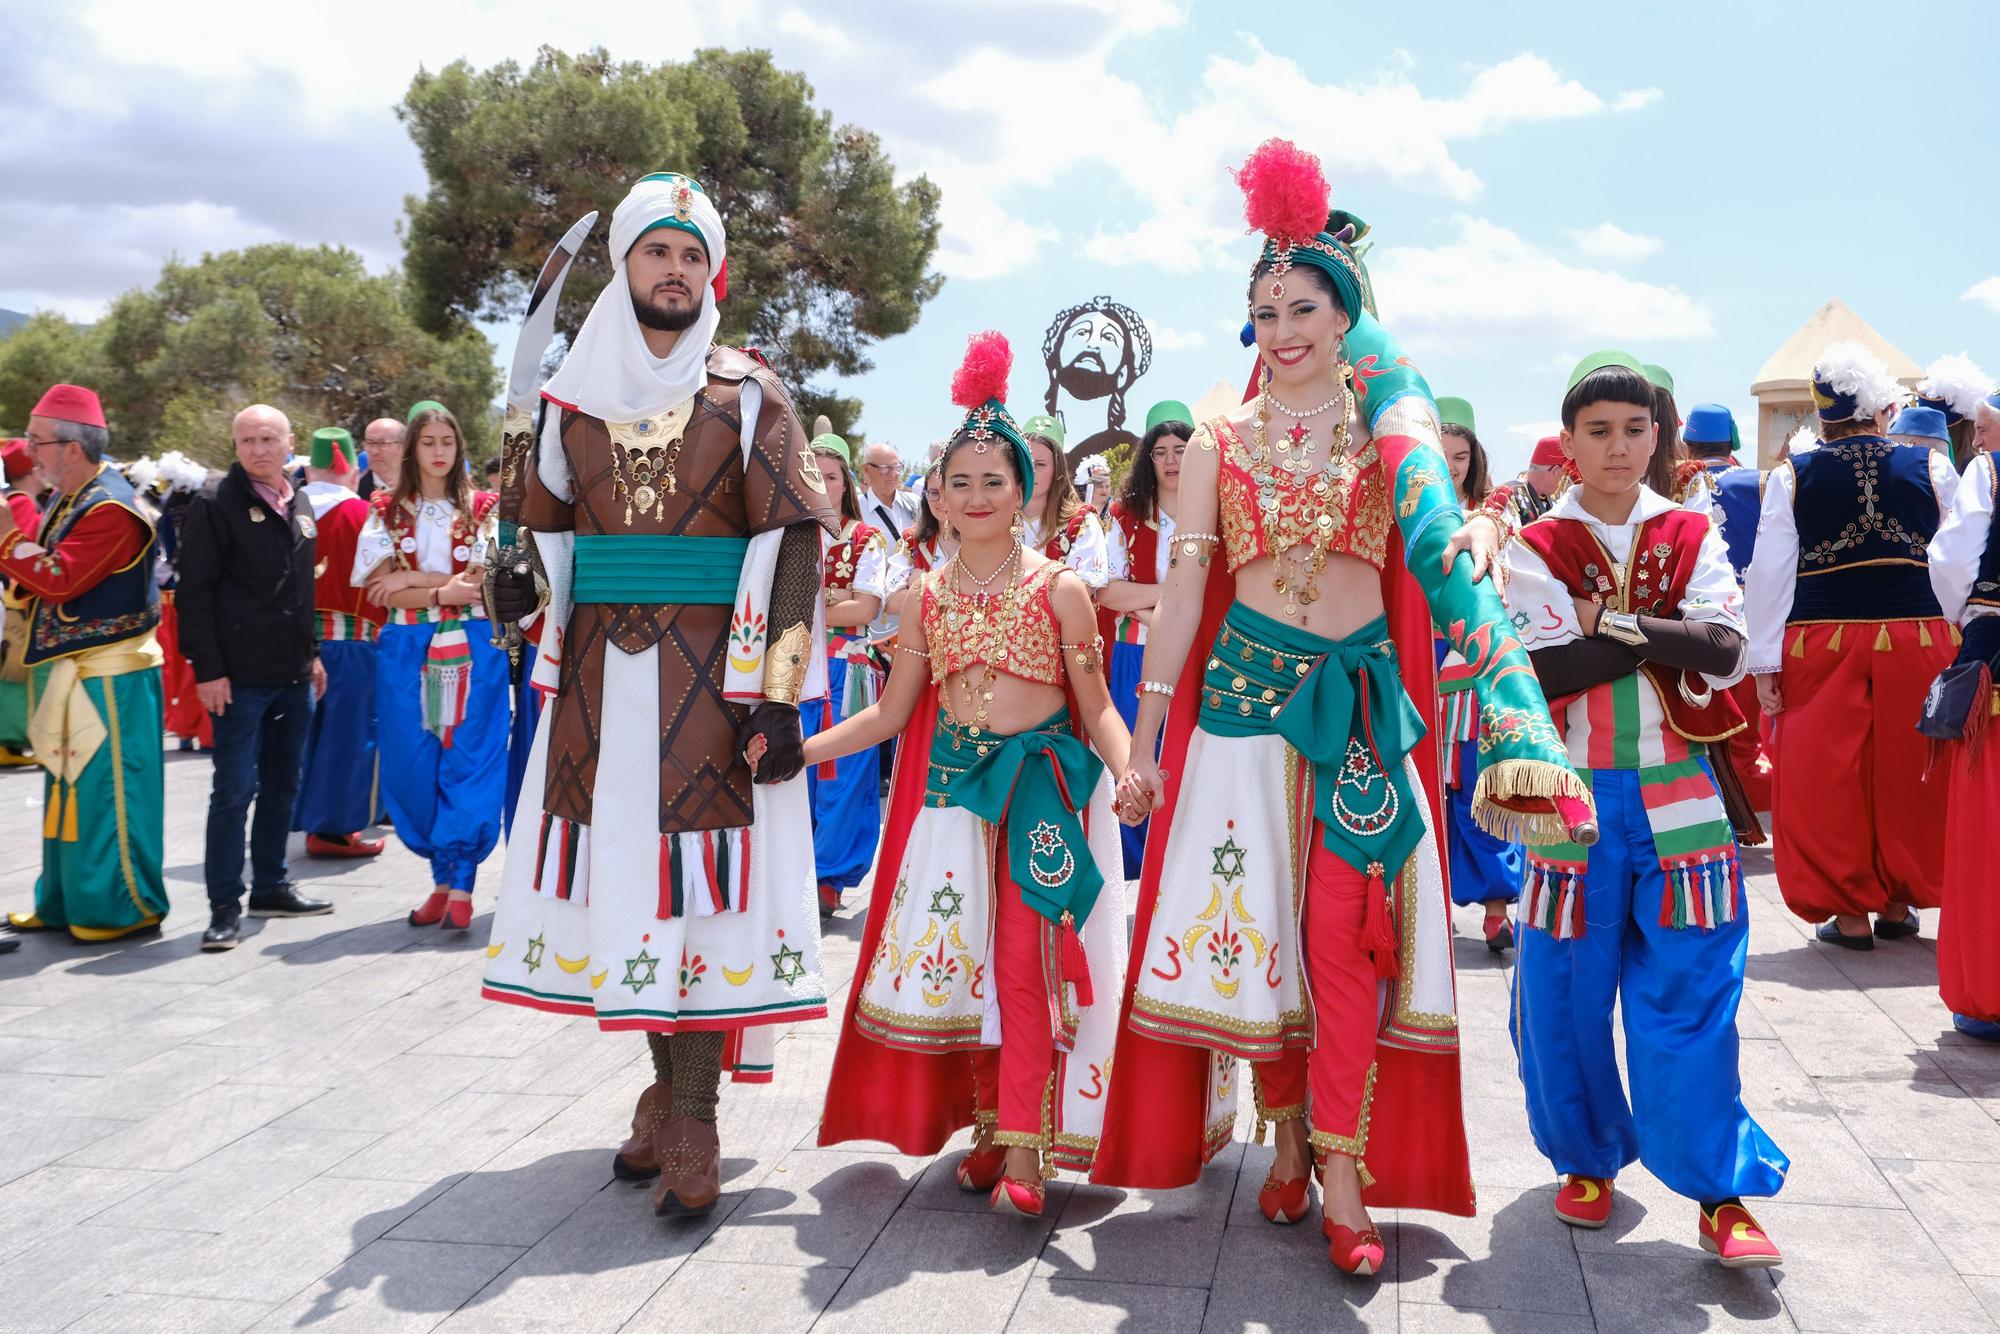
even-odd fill
[[[1182,462],[1120,790],[1162,826],[1092,1178],[1192,1182],[1230,1140],[1248,1060],[1258,1118],[1278,1122],[1264,1216],[1306,1216],[1318,1158],[1328,1256],[1372,1274],[1368,1206],[1472,1212],[1432,622],[1488,724],[1482,824],[1542,842],[1562,834],[1556,798],[1576,826],[1588,804],[1482,560],[1458,560],[1436,408],[1374,320],[1366,228],[1330,214],[1318,162],[1282,140],[1238,182],[1268,238],[1250,284],[1262,392]]]

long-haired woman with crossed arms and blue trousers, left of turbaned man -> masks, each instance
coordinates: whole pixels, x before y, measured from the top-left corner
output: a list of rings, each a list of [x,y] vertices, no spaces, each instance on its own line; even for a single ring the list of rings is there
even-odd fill
[[[410,924],[466,930],[506,804],[508,662],[480,604],[496,496],[472,490],[458,418],[426,400],[410,410],[394,492],[370,504],[352,582],[388,608],[376,656],[382,804],[430,862],[432,894]]]

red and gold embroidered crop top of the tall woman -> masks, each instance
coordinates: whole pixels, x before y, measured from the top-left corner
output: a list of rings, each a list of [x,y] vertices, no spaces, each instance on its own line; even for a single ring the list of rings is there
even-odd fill
[[[1216,508],[1230,574],[1314,542],[1330,556],[1354,556],[1376,570],[1388,564],[1390,488],[1374,440],[1330,472],[1290,472],[1260,462],[1226,418],[1200,432],[1222,450]],[[1194,442],[1206,444],[1200,434]]]

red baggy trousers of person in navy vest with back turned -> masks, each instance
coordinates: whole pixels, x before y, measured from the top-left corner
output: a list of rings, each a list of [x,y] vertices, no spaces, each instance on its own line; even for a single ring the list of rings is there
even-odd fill
[[[1788,626],[1772,840],[1778,890],[1808,922],[1936,908],[1946,784],[1926,784],[1924,692],[1952,662],[1942,620]]]

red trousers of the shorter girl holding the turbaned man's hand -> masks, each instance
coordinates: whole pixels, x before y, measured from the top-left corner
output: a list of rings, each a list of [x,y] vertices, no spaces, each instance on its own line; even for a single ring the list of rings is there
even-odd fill
[[[1046,1150],[1054,1134],[1050,1074],[1056,1026],[1042,972],[1046,922],[1006,874],[1006,832],[994,838],[994,1002],[1000,1046],[972,1052],[972,1106],[978,1122],[998,1114],[998,1144]]]

